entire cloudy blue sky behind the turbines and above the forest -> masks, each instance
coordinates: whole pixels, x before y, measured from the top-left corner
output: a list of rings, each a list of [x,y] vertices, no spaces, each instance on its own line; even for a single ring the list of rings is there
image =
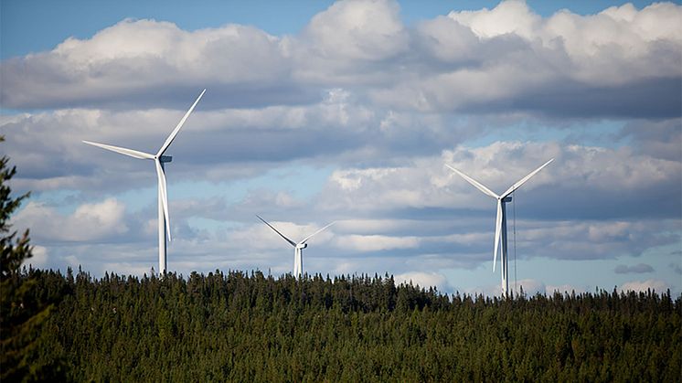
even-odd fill
[[[620,1],[6,0],[2,153],[32,197],[33,264],[101,276],[168,268],[386,272],[444,292],[682,292],[682,5]],[[485,7],[484,7],[485,5]]]

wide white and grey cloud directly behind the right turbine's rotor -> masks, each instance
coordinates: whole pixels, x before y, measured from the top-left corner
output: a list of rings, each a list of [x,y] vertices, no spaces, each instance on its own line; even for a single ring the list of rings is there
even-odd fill
[[[531,216],[675,218],[682,208],[674,198],[682,194],[680,163],[634,155],[627,149],[514,142],[479,148],[461,146],[400,167],[337,170],[325,186],[324,196],[330,197],[323,197],[323,206],[351,207],[359,214],[397,207],[494,208],[488,197],[443,164],[461,169],[502,193],[552,157],[554,163],[519,190],[523,194],[542,190],[535,203],[519,202],[526,204]],[[661,198],[661,194],[669,197]],[[642,198],[650,203],[643,204]],[[622,208],[627,205],[633,207]]]

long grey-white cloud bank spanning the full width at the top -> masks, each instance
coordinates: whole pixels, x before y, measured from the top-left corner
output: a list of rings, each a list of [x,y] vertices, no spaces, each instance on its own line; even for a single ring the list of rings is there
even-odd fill
[[[287,37],[126,19],[3,61],[2,100],[10,108],[177,106],[179,94],[203,83],[223,107],[265,106],[315,101],[342,86],[422,112],[676,116],[681,16],[681,6],[661,3],[542,17],[506,1],[407,27],[395,2],[347,0]]]

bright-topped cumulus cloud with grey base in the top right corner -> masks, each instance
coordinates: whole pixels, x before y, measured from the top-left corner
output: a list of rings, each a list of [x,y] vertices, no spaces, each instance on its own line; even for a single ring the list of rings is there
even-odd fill
[[[680,15],[677,5],[657,4],[641,11],[623,5],[596,16],[564,10],[543,19],[521,1],[453,11],[418,28],[422,46],[449,69],[376,95],[421,109],[480,106],[489,112],[494,105],[562,115],[674,116],[680,111]],[[442,53],[448,50],[453,56]],[[662,103],[642,102],[661,91],[666,97],[656,100]]]

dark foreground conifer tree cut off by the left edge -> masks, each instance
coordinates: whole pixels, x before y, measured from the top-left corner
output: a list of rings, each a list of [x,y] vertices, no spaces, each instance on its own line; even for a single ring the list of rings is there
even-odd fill
[[[0,136],[0,142],[4,141]],[[9,180],[16,167],[0,159],[0,379],[38,381],[65,378],[59,342],[48,325],[54,305],[36,296],[37,281],[21,274],[22,262],[32,256],[28,230],[16,239],[9,218],[28,197],[11,197]]]

